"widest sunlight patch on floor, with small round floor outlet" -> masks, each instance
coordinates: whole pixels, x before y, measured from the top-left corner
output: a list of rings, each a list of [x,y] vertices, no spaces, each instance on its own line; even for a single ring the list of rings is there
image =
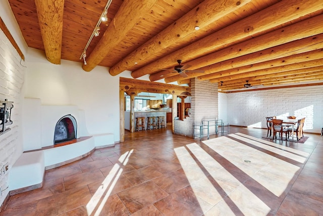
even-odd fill
[[[209,148],[219,153],[240,170],[248,174],[268,191],[281,196],[300,169],[298,166],[283,161],[272,155],[256,150],[247,145],[225,137],[230,147],[217,139],[204,141]],[[227,148],[227,151],[223,151]],[[219,149],[221,149],[219,151]],[[245,160],[251,162],[246,163]]]

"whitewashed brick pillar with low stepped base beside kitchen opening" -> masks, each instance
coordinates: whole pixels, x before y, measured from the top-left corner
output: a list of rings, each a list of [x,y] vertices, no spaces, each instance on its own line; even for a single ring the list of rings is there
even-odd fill
[[[193,124],[218,117],[218,84],[191,79],[191,115],[174,121],[175,134],[193,137]]]

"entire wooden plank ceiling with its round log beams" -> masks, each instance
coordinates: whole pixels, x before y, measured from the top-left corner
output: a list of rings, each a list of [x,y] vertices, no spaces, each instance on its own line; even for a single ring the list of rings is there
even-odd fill
[[[107,0],[8,1],[27,45],[54,64],[166,83],[210,80],[224,92],[246,80],[254,89],[323,83],[323,0],[113,0],[86,65],[80,56]],[[188,71],[175,71],[177,60]]]

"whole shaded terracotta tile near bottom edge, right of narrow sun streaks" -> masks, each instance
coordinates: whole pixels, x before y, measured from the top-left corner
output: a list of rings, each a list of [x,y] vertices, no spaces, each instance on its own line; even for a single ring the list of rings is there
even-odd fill
[[[168,196],[168,193],[149,181],[119,192],[118,196],[128,210],[134,213],[146,205]]]

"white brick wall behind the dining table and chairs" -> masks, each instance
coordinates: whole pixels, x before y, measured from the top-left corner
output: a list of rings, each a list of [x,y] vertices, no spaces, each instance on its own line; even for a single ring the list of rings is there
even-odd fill
[[[219,96],[219,104],[227,105],[232,125],[266,128],[265,117],[273,115],[306,117],[305,132],[320,133],[323,125],[323,85],[225,95]]]

